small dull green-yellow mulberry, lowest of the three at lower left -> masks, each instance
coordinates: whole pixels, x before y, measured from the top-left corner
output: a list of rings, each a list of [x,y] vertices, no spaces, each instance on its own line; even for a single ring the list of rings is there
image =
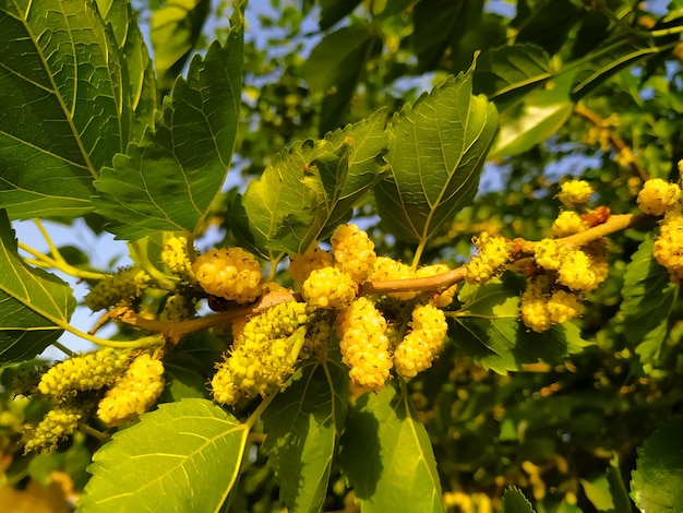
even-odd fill
[[[60,441],[76,430],[85,415],[82,406],[71,403],[57,405],[36,426],[26,428],[24,454],[52,451]]]

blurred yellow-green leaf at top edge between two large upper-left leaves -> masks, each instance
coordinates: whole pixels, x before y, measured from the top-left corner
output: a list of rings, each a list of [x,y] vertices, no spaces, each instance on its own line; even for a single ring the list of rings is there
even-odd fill
[[[209,0],[173,0],[152,12],[154,65],[164,90],[170,90],[202,35]]]

